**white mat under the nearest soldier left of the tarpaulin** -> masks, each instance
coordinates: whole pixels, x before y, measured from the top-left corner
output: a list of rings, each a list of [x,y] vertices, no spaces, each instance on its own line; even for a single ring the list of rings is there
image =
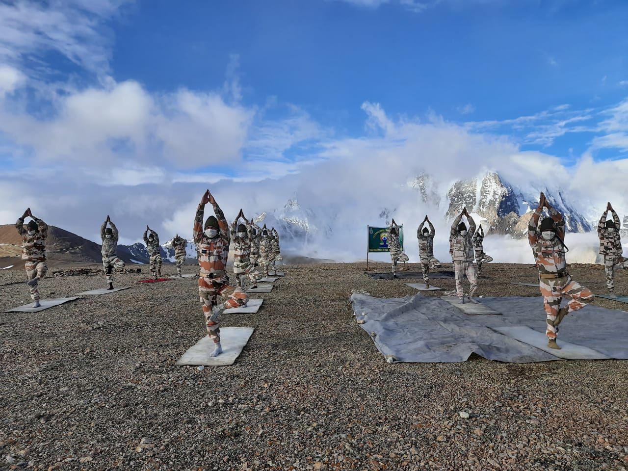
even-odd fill
[[[242,349],[251,338],[254,327],[223,327],[220,329],[220,346],[222,353],[210,357],[214,350],[214,342],[205,335],[190,347],[176,362],[177,365],[227,366],[236,362]]]

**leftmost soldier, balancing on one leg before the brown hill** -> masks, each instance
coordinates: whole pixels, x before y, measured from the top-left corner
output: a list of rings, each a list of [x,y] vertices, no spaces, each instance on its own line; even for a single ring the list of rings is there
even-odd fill
[[[24,219],[31,217],[24,229]],[[31,213],[31,208],[24,211],[22,217],[18,218],[15,228],[22,236],[22,260],[26,260],[26,278],[31,292],[31,299],[35,301],[33,308],[38,308],[40,304],[39,280],[46,276],[48,266],[46,265],[46,239],[48,238],[48,225],[43,220],[36,218]]]

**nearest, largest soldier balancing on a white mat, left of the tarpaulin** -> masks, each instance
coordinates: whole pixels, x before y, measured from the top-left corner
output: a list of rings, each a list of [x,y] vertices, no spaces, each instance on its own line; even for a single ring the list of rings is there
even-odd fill
[[[215,216],[210,216],[203,225],[205,205],[212,204]],[[214,341],[214,350],[210,356],[222,353],[218,317],[227,308],[237,308],[249,302],[249,296],[241,288],[229,283],[227,276],[227,257],[229,257],[229,223],[216,203],[212,193],[207,190],[198,205],[194,218],[194,242],[198,247],[198,295],[205,315],[207,335]],[[217,304],[217,296],[228,298]]]

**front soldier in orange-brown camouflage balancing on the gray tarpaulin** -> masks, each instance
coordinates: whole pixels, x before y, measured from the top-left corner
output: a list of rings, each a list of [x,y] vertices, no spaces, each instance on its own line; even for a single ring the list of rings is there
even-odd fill
[[[548,209],[550,217],[544,218],[539,227],[539,217],[543,207]],[[563,220],[563,215],[549,204],[543,193],[541,193],[539,206],[528,225],[528,241],[539,269],[539,289],[544,298],[547,315],[548,347],[560,350],[556,344],[558,325],[568,313],[582,309],[593,301],[593,293],[573,281],[567,272],[565,260],[567,249],[563,242],[565,241],[565,220]],[[563,296],[571,299],[566,306],[561,308]]]

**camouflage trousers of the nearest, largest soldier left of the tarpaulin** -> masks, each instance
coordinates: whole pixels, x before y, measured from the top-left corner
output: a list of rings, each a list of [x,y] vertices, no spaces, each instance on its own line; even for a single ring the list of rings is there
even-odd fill
[[[218,317],[222,310],[244,306],[249,302],[249,296],[229,281],[215,281],[201,276],[198,278],[198,296],[205,315],[205,327],[207,335],[217,344],[220,342],[220,327]],[[216,297],[228,298],[222,305],[222,309],[212,315],[212,306],[216,305]]]

